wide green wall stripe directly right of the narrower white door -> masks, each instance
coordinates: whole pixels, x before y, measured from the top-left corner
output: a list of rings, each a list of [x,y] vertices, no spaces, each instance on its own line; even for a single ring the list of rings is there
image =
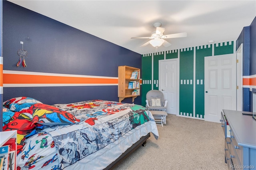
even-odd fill
[[[180,115],[193,117],[193,77],[194,47],[180,49]]]

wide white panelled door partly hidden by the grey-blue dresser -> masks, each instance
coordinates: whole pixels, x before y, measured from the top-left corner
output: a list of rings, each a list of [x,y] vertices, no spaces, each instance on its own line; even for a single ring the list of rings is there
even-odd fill
[[[206,121],[218,122],[222,109],[236,110],[236,54],[204,57]]]

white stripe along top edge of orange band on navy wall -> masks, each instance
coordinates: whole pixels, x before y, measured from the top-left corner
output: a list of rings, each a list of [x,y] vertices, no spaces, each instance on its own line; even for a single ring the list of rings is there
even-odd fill
[[[42,72],[32,72],[32,71],[13,71],[13,70],[3,70],[4,74],[23,74],[23,75],[46,75],[46,76],[60,76],[60,77],[89,77],[89,78],[102,78],[102,79],[118,79],[118,77],[105,77],[105,76],[95,76],[95,75],[76,75],[76,74],[59,74],[59,73],[42,73]]]

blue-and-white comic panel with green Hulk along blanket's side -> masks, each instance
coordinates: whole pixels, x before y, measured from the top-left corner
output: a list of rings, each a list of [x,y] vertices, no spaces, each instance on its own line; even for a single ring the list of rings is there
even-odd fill
[[[77,129],[61,136],[54,136],[60,158],[60,169],[104,148],[115,142],[139,125],[149,121],[145,112],[138,106],[132,107],[129,113],[98,125]],[[62,130],[65,131],[63,128]]]

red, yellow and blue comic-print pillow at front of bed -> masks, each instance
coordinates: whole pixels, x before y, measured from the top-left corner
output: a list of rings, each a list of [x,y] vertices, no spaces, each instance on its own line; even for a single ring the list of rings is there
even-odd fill
[[[43,103],[33,104],[30,109],[32,110],[33,123],[41,125],[69,125],[80,122],[80,119],[76,119],[74,115]]]

